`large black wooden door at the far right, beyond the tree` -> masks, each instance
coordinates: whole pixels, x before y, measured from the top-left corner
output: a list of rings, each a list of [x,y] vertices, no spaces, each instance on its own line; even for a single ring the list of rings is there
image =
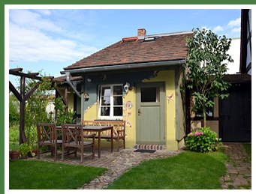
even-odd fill
[[[220,136],[224,142],[251,142],[251,84],[234,84],[220,100]]]

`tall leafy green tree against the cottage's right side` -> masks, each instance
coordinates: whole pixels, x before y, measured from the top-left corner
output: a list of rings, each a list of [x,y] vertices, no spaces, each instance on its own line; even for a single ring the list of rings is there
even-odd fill
[[[194,31],[194,29],[193,29]],[[194,110],[202,110],[203,127],[206,127],[206,107],[213,107],[214,97],[228,97],[230,84],[223,77],[227,72],[227,63],[233,62],[227,54],[231,39],[210,30],[194,31],[194,37],[188,38],[188,58],[185,62],[187,87],[191,89],[195,104]]]

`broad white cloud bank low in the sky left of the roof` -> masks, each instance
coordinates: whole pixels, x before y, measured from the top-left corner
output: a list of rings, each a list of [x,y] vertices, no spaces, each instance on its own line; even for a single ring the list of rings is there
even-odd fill
[[[10,61],[68,61],[83,58],[98,49],[72,40],[55,39],[31,29],[10,25]]]

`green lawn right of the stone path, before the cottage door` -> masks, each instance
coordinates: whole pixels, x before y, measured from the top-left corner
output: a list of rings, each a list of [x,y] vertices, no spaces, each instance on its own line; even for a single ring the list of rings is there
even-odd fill
[[[132,168],[109,190],[216,190],[225,175],[226,155],[184,152],[176,157],[149,160]]]

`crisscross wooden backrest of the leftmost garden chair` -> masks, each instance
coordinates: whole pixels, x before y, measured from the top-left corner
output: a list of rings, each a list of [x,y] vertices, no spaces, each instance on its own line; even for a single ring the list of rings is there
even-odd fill
[[[38,142],[56,144],[56,124],[37,124],[38,129]]]

